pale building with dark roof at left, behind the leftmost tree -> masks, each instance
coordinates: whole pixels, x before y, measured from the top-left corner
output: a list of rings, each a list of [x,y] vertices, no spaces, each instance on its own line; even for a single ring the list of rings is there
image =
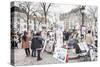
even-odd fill
[[[11,30],[22,33],[27,31],[27,16],[25,10],[22,10],[15,5],[16,2],[11,3]],[[43,17],[29,16],[29,30],[40,30],[42,28]],[[41,23],[40,23],[41,22]]]

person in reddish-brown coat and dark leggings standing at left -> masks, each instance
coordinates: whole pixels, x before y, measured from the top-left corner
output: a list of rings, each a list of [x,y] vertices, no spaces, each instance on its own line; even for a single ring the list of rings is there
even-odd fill
[[[25,31],[22,37],[22,48],[25,49],[26,56],[30,55],[28,33]]]

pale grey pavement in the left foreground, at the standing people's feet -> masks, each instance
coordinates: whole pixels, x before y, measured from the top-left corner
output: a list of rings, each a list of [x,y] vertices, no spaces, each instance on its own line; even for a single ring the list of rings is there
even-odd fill
[[[53,57],[52,54],[43,52],[42,60],[37,61],[36,57],[26,57],[24,49],[15,49],[15,65],[40,65],[40,64],[57,64],[63,63]]]

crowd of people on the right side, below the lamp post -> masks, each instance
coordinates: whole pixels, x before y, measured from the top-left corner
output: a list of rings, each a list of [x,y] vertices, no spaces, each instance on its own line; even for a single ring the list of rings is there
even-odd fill
[[[74,48],[76,53],[81,53],[79,43],[85,42],[90,49],[90,46],[97,48],[97,36],[93,35],[91,30],[88,30],[85,34],[79,34],[77,30],[73,32],[64,31],[63,41],[67,44],[68,48]],[[84,46],[84,44],[82,45]]]

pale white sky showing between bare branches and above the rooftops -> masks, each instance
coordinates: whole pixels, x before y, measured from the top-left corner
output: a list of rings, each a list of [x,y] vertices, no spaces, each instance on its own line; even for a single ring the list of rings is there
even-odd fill
[[[18,6],[18,2],[19,1],[16,1],[15,5]],[[32,6],[35,5],[35,7],[34,7],[35,9],[41,9],[41,7],[39,6],[39,4],[40,4],[39,2],[33,2]],[[53,3],[53,5],[49,9],[49,14],[56,14],[57,15],[57,14],[61,14],[61,13],[68,13],[72,9],[77,8],[78,6],[80,6],[80,5]],[[88,13],[88,8],[89,7],[90,6],[86,6],[85,13]],[[92,6],[92,7],[95,7],[95,6]]]

